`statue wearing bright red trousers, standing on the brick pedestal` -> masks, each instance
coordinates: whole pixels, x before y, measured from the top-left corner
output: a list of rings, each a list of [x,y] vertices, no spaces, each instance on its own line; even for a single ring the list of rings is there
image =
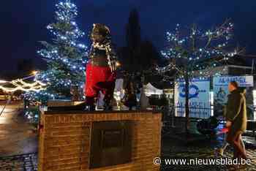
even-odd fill
[[[111,43],[110,30],[103,24],[94,24],[91,31],[91,50],[86,66],[86,105],[95,110],[99,91],[104,94],[104,110],[111,110],[110,101],[116,82],[116,53]]]

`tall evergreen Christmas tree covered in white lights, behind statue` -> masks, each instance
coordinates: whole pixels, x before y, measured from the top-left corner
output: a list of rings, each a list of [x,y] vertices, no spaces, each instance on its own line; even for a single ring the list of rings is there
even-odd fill
[[[41,42],[45,47],[37,53],[47,62],[48,69],[39,72],[36,80],[48,83],[45,91],[26,94],[26,99],[70,99],[72,88],[83,89],[86,66],[86,45],[80,43],[84,36],[75,19],[78,8],[70,0],[56,4],[56,22],[47,26],[53,41]]]

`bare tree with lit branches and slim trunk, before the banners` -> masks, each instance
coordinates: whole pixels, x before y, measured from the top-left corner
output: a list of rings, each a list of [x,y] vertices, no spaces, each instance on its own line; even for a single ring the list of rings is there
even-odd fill
[[[173,32],[167,32],[167,48],[162,55],[167,59],[165,67],[159,67],[162,75],[171,70],[176,71],[176,79],[185,82],[185,116],[186,132],[189,130],[189,81],[193,77],[208,76],[211,69],[220,64],[227,64],[229,58],[242,53],[238,47],[234,48],[233,23],[226,20],[220,26],[201,31],[194,24],[181,29],[179,24]]]

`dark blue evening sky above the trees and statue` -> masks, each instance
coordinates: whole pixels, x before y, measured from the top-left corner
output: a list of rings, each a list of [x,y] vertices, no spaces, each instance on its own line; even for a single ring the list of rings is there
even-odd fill
[[[0,7],[1,71],[15,69],[18,58],[31,58],[39,66],[39,40],[50,40],[45,26],[53,20],[55,4],[59,0],[9,0]],[[197,23],[208,28],[231,18],[235,23],[236,42],[256,54],[256,1],[255,0],[73,0],[78,5],[80,28],[86,33],[92,23],[110,27],[118,46],[125,45],[125,24],[129,11],[136,7],[144,39],[151,40],[162,50],[165,31],[176,23],[189,26]],[[84,41],[88,37],[84,38]]]

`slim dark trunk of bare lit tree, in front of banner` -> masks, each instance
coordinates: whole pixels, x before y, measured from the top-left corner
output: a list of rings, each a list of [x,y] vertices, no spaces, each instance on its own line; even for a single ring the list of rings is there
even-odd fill
[[[186,73],[185,77],[185,115],[186,115],[186,134],[189,134],[189,75]]]

